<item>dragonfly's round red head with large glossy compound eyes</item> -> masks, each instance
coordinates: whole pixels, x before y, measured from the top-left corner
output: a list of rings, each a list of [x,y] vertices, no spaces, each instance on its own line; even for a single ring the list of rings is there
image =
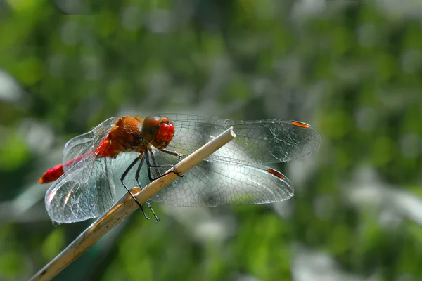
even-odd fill
[[[150,115],[143,120],[142,138],[155,148],[166,148],[174,136],[174,125],[166,117]]]

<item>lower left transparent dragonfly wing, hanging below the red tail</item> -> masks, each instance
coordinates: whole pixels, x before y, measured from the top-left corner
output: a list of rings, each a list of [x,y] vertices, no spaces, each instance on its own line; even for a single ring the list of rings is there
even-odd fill
[[[87,171],[84,162],[72,166],[46,193],[45,204],[52,221],[74,223],[104,214],[115,201],[110,158],[97,158]]]

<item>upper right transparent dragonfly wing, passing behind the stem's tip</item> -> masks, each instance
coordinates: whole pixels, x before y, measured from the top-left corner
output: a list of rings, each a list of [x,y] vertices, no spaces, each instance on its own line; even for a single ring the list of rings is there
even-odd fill
[[[207,161],[256,166],[288,162],[318,150],[321,134],[302,122],[277,119],[242,121],[196,115],[164,115],[174,123],[174,138],[167,149],[183,154],[233,126],[236,138],[207,158]]]

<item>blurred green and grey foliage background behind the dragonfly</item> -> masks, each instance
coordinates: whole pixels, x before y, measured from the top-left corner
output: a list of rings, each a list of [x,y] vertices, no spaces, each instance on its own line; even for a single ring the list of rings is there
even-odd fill
[[[153,204],[56,280],[422,280],[418,1],[0,0],[0,280],[90,221],[54,227],[38,179],[111,116],[298,119],[323,145],[274,166],[279,204]]]

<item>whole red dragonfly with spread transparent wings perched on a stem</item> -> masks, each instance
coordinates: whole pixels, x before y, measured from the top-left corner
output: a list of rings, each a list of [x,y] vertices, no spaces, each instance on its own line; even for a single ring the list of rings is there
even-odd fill
[[[292,197],[294,188],[288,178],[263,165],[288,162],[318,150],[321,134],[308,124],[180,114],[145,119],[124,116],[107,119],[65,144],[63,164],[39,179],[40,183],[55,181],[46,192],[47,212],[56,223],[101,216],[115,202],[116,185],[121,184],[129,193],[133,186],[144,187],[230,126],[236,133],[234,140],[150,200],[215,207],[280,202]],[[146,204],[158,221],[148,200]]]

